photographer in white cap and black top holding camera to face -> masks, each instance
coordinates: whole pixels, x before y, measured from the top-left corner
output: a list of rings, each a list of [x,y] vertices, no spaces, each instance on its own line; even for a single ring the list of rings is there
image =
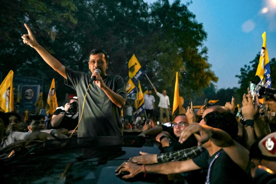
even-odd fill
[[[52,116],[51,128],[74,130],[78,125],[78,98],[73,97],[64,107],[56,109]]]

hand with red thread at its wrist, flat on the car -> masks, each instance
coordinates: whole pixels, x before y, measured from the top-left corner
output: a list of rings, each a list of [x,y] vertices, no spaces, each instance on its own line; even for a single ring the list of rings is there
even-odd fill
[[[139,166],[137,164],[133,164],[131,162],[123,162],[116,170],[115,172],[116,175],[120,175],[122,172],[127,171],[129,172],[129,175],[124,175],[122,178],[127,179],[127,178],[132,178],[135,175],[143,172],[143,166]]]

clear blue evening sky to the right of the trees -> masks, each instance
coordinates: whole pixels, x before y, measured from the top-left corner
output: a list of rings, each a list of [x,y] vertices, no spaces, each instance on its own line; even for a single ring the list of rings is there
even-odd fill
[[[218,76],[218,88],[239,87],[235,75],[261,50],[264,31],[269,59],[276,57],[276,0],[193,0],[188,9],[207,32],[204,46],[209,49],[208,62]]]

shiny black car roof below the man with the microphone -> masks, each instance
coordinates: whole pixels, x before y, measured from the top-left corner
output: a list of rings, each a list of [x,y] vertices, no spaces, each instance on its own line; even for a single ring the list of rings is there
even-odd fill
[[[127,180],[115,175],[139,151],[160,152],[153,139],[141,136],[55,139],[14,150],[0,160],[4,183],[172,183],[159,174]]]

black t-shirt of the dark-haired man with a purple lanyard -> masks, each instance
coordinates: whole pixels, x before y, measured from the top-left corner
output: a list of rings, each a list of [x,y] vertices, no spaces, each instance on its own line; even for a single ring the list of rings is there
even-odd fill
[[[193,162],[200,168],[208,169],[210,162],[218,152],[210,157],[209,152],[205,150],[202,154],[193,158]],[[212,183],[244,184],[251,183],[251,179],[242,168],[240,168],[223,150],[221,150],[221,154],[216,158],[211,167],[210,184]]]

